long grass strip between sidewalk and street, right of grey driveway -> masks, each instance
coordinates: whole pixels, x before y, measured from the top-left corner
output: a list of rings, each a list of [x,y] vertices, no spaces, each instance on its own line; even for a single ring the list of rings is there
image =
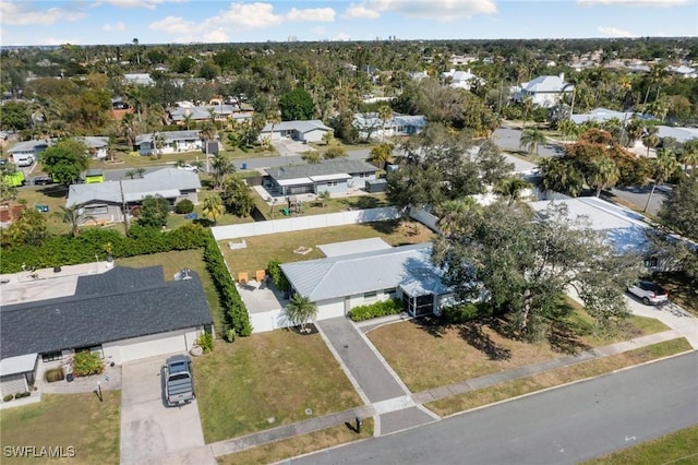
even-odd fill
[[[690,349],[691,346],[688,341],[681,337],[629,350],[623,354],[583,361],[569,367],[557,368],[543,373],[505,382],[492,388],[485,388],[440,401],[430,402],[424,404],[424,406],[436,415],[442,417],[448,416],[547,388],[554,388],[573,381],[610,373],[621,368],[645,363],[650,360],[681,354]]]

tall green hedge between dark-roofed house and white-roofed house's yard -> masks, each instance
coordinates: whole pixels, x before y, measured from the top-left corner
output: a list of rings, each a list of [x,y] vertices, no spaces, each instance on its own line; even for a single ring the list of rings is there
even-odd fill
[[[204,261],[220,296],[220,305],[226,312],[226,322],[230,329],[234,330],[236,334],[249,336],[252,334],[252,325],[250,324],[248,309],[244,307],[240,294],[238,294],[238,288],[230,276],[228,266],[226,266],[220,248],[210,233],[206,236]]]

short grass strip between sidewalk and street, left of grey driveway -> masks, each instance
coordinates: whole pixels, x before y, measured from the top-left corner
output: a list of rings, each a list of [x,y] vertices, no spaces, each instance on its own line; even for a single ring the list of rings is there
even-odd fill
[[[373,437],[373,418],[365,418],[361,433],[350,430],[346,425],[340,425],[225,455],[217,461],[220,465],[268,464],[371,437]]]

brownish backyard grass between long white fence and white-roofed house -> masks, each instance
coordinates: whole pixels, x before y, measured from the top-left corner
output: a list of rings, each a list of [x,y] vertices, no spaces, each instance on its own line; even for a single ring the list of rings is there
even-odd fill
[[[281,263],[321,259],[325,255],[317,248],[318,245],[372,237],[380,237],[390,246],[402,246],[430,241],[434,234],[417,222],[387,220],[249,237],[244,238],[248,245],[245,249],[230,250],[227,247],[229,240],[221,240],[219,245],[232,276],[236,277],[240,272],[252,273],[253,276],[256,270],[266,270],[272,259]],[[241,240],[242,238],[230,241]],[[293,253],[299,247],[312,247],[313,250],[305,255]]]

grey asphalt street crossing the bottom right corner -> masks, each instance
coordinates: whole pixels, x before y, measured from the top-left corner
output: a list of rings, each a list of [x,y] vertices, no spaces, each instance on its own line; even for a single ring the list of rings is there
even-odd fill
[[[293,464],[574,464],[698,424],[698,353],[649,363]]]

